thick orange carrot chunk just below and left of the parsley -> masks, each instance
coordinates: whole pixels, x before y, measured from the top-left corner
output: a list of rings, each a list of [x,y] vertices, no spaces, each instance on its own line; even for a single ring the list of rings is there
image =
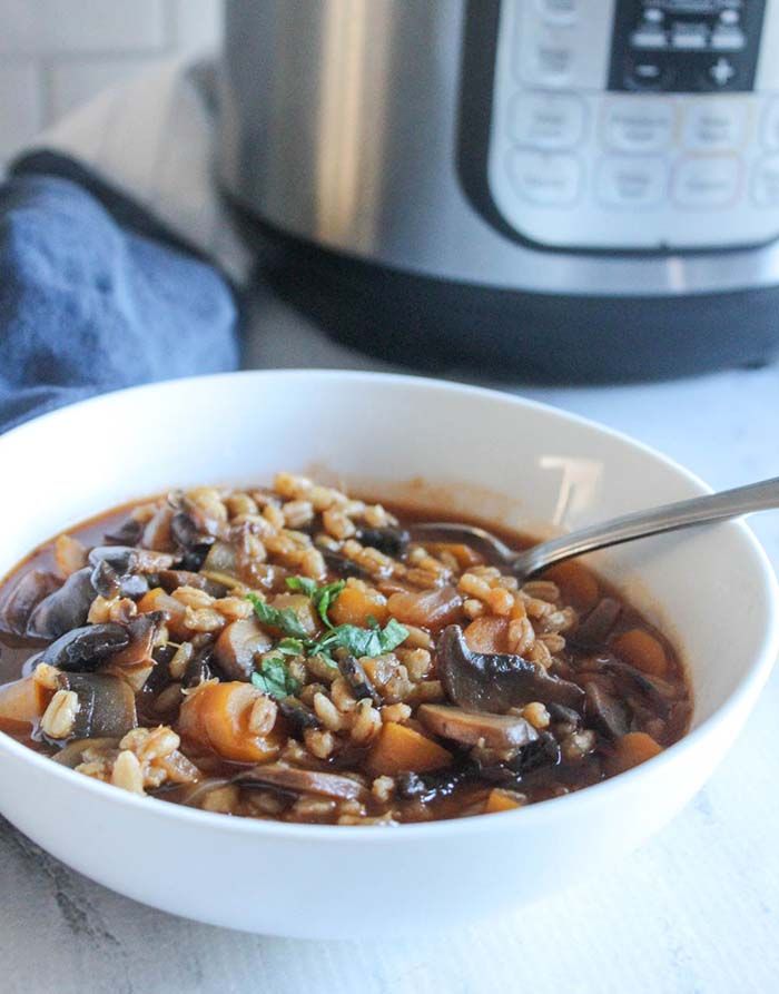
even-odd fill
[[[179,730],[225,759],[273,759],[282,745],[280,731],[274,727],[269,734],[258,736],[249,729],[249,716],[259,697],[250,683],[206,683],[181,705]]]

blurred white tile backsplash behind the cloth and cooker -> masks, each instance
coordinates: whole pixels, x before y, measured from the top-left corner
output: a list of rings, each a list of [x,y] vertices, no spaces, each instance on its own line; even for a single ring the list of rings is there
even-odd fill
[[[224,0],[0,0],[0,165],[107,86],[214,48]]]

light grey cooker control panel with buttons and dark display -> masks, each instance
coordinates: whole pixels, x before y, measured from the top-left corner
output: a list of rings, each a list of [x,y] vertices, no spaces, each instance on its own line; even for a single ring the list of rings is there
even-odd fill
[[[501,0],[487,187],[555,248],[779,237],[779,0]]]

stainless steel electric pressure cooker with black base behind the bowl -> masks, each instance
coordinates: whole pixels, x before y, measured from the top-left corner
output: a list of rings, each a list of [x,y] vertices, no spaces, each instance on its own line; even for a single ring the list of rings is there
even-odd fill
[[[355,343],[575,378],[777,347],[775,0],[228,0],[223,76],[224,187]]]

